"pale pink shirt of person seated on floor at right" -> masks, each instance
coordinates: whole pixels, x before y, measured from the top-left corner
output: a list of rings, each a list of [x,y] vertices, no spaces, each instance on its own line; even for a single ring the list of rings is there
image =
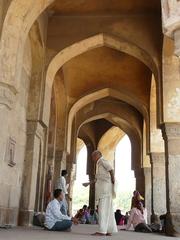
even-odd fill
[[[135,228],[139,223],[146,223],[146,218],[147,218],[147,210],[145,208],[143,210],[143,214],[139,209],[132,208],[126,229],[128,230],[131,227],[131,224]]]

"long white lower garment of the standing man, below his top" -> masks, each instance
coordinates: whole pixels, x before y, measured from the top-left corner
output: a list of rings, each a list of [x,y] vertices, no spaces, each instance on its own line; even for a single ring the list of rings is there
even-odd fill
[[[112,197],[105,197],[99,199],[98,214],[100,233],[106,234],[117,232]]]

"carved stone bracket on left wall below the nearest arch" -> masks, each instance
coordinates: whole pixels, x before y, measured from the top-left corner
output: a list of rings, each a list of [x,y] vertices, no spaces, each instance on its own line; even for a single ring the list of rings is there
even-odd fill
[[[16,93],[13,87],[0,82],[0,105],[11,110],[15,102]]]

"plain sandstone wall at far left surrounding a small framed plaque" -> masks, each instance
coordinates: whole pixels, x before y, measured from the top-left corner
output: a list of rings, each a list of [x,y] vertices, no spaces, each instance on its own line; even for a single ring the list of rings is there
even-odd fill
[[[3,106],[3,114],[0,115],[0,224],[16,224],[18,216],[26,146],[27,96],[31,77],[31,48],[29,39],[26,41],[23,62],[21,85],[19,92],[16,94],[14,106],[11,110]],[[14,162],[16,165],[13,167],[8,165],[10,138],[15,141]]]

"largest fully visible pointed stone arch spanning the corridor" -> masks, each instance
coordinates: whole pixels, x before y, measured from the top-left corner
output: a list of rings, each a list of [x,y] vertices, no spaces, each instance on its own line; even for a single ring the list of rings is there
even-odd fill
[[[57,71],[70,59],[89,50],[102,46],[113,48],[117,51],[134,56],[139,61],[143,62],[149,69],[151,69],[158,81],[158,67],[145,50],[141,49],[130,41],[121,39],[120,37],[114,37],[104,33],[97,34],[63,49],[50,62],[46,74],[45,97],[42,116],[44,122],[48,121],[49,111],[47,108],[50,106],[51,88]]]

